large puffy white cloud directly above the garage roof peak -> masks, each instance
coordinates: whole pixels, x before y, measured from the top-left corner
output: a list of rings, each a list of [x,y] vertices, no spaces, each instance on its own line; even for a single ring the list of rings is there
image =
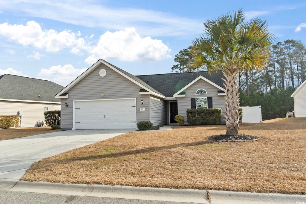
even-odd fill
[[[140,36],[135,28],[125,28],[117,32],[106,32],[89,53],[85,62],[95,63],[99,58],[120,61],[159,61],[170,57],[168,46],[161,40]]]

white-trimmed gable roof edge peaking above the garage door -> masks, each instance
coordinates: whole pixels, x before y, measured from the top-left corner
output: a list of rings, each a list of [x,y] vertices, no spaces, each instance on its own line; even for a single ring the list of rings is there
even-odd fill
[[[90,68],[88,68],[85,72],[83,72],[80,76],[78,76],[75,80],[73,80],[73,82],[71,82],[68,86],[66,86],[62,91],[58,92],[58,94],[55,95],[55,98],[59,98],[60,95],[69,91],[69,89],[71,89],[74,85],[76,85],[80,80],[82,80],[85,76],[87,76],[90,72],[92,72],[95,68],[97,68],[101,64],[104,64],[104,65],[108,66],[110,69],[113,69],[115,72],[118,72],[119,74],[121,74],[125,78],[129,79],[133,83],[136,83],[138,86],[145,89],[146,91],[155,92],[157,94],[162,95],[161,93],[156,91],[154,88],[147,85],[142,80],[138,79],[136,76],[134,76],[134,75],[132,75],[128,72],[125,72],[124,70],[106,62],[105,60],[99,59],[95,64],[93,64]]]

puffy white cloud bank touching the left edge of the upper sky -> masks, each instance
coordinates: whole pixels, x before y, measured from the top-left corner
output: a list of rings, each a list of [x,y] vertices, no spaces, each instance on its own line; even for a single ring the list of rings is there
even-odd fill
[[[56,52],[66,47],[84,46],[84,39],[77,38],[80,32],[74,33],[70,30],[57,32],[55,30],[42,30],[41,26],[31,20],[22,24],[0,24],[0,35],[8,37],[10,40],[20,43],[23,46],[33,46],[39,49],[46,49],[50,52]],[[72,50],[78,54],[79,51]]]

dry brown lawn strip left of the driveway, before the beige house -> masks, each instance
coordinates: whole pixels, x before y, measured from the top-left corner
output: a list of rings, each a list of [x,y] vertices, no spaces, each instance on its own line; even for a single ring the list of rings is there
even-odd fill
[[[51,130],[50,127],[33,127],[33,128],[10,128],[0,129],[0,140],[27,137],[61,130]]]

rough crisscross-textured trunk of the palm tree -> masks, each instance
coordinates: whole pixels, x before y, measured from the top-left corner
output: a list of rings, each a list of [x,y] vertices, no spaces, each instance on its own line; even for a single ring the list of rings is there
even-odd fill
[[[238,93],[238,70],[225,69],[223,75],[225,76],[226,97],[225,98],[225,122],[226,135],[237,135],[239,130],[239,94]]]

